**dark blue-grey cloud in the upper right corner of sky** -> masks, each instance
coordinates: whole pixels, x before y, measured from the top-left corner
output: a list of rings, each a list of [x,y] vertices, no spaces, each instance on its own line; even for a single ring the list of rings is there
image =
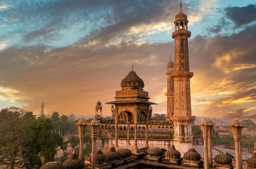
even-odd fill
[[[236,28],[256,20],[256,5],[253,4],[243,7],[227,7],[224,10],[227,18],[236,24]]]

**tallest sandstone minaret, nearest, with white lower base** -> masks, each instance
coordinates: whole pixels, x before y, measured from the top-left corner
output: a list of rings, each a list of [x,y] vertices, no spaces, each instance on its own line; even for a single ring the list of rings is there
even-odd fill
[[[171,73],[174,80],[174,112],[170,119],[174,123],[173,141],[181,155],[192,147],[192,124],[195,116],[191,114],[190,78],[193,73],[189,71],[187,15],[183,13],[180,2],[180,12],[175,16],[175,71]],[[167,96],[168,97],[168,96]]]

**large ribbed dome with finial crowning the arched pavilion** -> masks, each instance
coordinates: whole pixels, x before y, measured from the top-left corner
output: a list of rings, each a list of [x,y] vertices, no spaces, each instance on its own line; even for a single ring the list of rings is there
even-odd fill
[[[121,87],[122,87],[122,90],[125,90],[125,89],[143,90],[144,82],[142,79],[140,79],[140,77],[132,69],[129,72],[129,74],[124,79],[122,79]]]

